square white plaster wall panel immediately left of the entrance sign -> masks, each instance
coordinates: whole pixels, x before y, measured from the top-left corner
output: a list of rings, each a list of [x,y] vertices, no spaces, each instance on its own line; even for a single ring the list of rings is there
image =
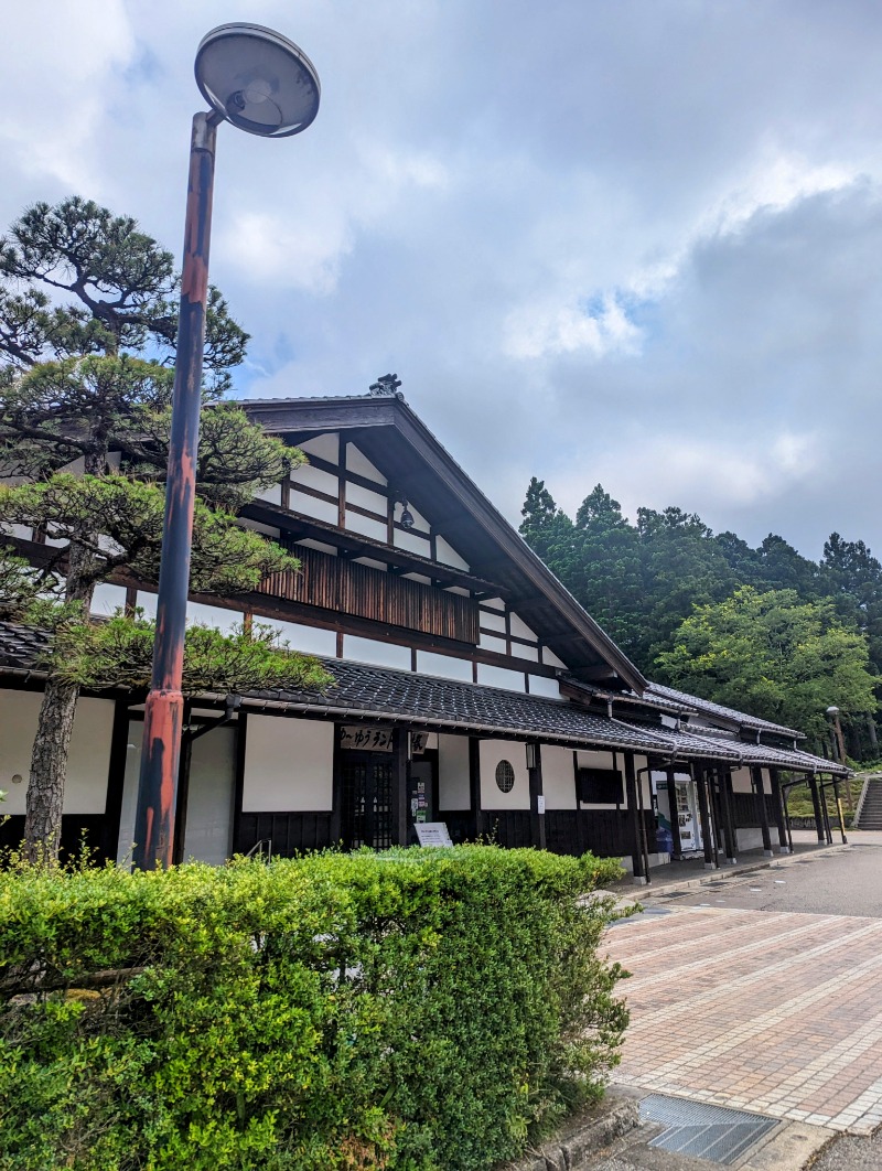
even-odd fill
[[[247,813],[331,808],[334,725],[249,715],[242,809]]]

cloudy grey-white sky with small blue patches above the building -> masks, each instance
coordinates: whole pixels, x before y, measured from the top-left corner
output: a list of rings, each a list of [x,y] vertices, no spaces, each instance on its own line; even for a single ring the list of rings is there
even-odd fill
[[[877,0],[28,0],[5,13],[0,224],[69,193],[178,253],[216,25],[315,62],[317,119],[221,128],[212,278],[239,391],[389,370],[518,522],[678,505],[882,554]]]

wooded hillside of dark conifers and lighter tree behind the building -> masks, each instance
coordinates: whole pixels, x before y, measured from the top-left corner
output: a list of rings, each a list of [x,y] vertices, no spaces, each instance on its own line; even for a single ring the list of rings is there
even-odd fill
[[[650,678],[819,739],[835,704],[849,749],[877,755],[882,563],[863,541],[833,533],[814,562],[681,508],[631,523],[600,484],[573,520],[535,478],[521,512],[531,548]]]

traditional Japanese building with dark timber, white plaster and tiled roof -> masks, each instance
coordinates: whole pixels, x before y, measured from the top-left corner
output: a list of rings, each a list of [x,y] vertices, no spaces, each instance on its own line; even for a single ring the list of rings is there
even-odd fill
[[[781,773],[845,775],[798,731],[655,685],[539,561],[385,379],[369,395],[244,404],[308,465],[241,523],[290,549],[298,574],[194,596],[194,621],[275,626],[334,677],[316,692],[206,694],[190,705],[177,854],[220,863],[453,841],[621,856],[642,879],[671,855],[706,865],[788,849]],[[18,546],[34,556],[33,534]],[[94,610],[155,609],[107,583]],[[0,623],[0,788],[21,836],[42,686],[41,635]],[[74,727],[63,844],[131,850],[141,704],[87,694]],[[823,826],[816,802],[819,836]]]

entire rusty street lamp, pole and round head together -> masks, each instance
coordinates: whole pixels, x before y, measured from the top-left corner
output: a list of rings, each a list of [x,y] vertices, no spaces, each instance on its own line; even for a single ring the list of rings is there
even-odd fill
[[[216,130],[231,122],[264,138],[296,135],[314,121],[321,94],[309,59],[293,41],[260,25],[221,25],[204,36],[196,54],[196,82],[211,109],[193,117],[190,143],[153,671],[135,821],[135,865],[142,870],[170,865],[175,842]]]

